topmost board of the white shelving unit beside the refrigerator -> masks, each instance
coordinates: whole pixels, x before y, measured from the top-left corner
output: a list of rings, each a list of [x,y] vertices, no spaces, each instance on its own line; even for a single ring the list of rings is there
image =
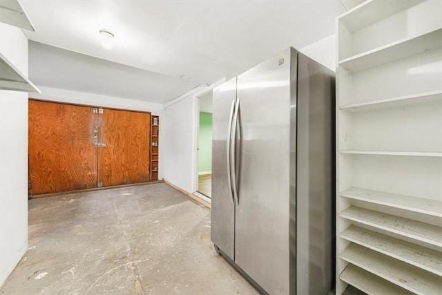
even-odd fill
[[[354,32],[421,2],[423,2],[423,0],[365,1],[352,10],[345,12],[345,14],[341,15],[338,20],[343,23],[350,32]]]

